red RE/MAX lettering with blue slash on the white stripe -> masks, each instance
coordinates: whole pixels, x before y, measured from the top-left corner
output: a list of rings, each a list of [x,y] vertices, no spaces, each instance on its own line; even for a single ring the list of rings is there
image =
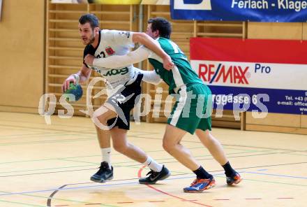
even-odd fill
[[[248,85],[249,66],[224,64],[199,64],[198,74],[209,83],[235,83]]]

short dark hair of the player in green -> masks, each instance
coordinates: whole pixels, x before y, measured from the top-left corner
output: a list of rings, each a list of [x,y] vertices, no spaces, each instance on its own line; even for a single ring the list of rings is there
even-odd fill
[[[147,23],[151,24],[152,31],[159,31],[160,37],[170,38],[170,34],[172,33],[172,25],[165,18],[151,18],[147,21]]]

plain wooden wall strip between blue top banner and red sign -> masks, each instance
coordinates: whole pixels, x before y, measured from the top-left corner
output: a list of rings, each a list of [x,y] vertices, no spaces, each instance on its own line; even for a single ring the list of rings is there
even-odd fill
[[[302,23],[248,22],[248,38],[301,39]]]

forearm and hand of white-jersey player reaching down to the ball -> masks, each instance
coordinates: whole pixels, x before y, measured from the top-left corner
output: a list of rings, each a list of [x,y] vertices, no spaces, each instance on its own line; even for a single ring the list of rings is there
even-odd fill
[[[91,69],[89,69],[85,64],[83,64],[80,71],[75,74],[71,74],[68,78],[66,78],[62,85],[62,92],[66,92],[66,90],[70,89],[70,83],[73,82],[73,84],[75,85],[79,83],[84,83],[89,79],[89,76],[91,76]]]

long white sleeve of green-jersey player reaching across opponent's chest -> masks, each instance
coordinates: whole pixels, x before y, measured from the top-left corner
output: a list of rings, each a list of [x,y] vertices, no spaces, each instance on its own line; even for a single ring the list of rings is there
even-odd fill
[[[129,52],[127,55],[112,55],[105,58],[95,58],[93,59],[93,66],[107,69],[120,68],[142,62],[144,59],[149,57],[150,53],[150,50],[141,46],[140,48],[137,48],[137,50]]]

